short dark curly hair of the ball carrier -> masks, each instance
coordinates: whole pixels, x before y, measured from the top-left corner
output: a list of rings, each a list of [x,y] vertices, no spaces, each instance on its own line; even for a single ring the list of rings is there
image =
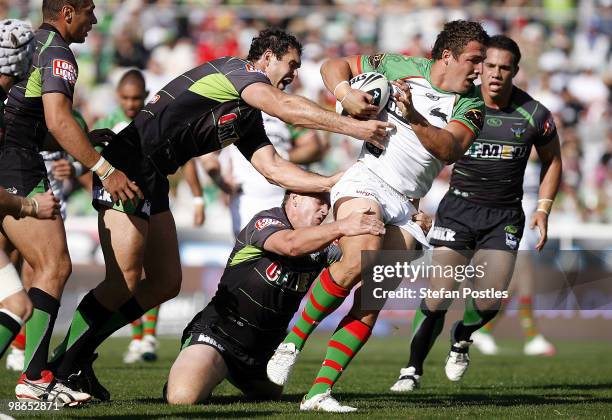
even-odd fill
[[[442,58],[442,51],[450,50],[453,57],[457,58],[463,52],[465,46],[471,41],[487,45],[489,35],[478,22],[466,20],[453,20],[444,24],[444,29],[438,34],[431,57],[434,60]]]

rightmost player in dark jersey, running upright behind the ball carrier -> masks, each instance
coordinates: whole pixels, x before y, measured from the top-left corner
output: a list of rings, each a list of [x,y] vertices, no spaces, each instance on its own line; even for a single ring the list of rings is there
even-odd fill
[[[443,265],[482,265],[485,287],[505,290],[512,276],[516,250],[523,236],[521,208],[525,166],[532,145],[542,162],[539,199],[530,227],[538,228],[535,249],[546,244],[548,215],[561,179],[559,138],[550,112],[512,84],[521,53],[510,38],[491,38],[483,63],[481,91],[486,104],[484,129],[455,163],[450,188],[440,203],[430,242],[434,260]],[[486,263],[486,264],[485,264]],[[487,269],[488,268],[488,269]],[[453,278],[430,279],[431,290],[457,286]],[[410,360],[400,370],[392,391],[411,391],[419,385],[423,362],[444,324],[445,299],[426,298],[413,321]],[[493,319],[499,299],[468,299],[462,321],[451,331],[446,376],[459,381],[469,365],[471,334]]]

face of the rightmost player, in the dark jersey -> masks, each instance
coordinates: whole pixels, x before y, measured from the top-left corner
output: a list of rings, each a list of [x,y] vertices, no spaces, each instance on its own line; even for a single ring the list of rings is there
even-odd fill
[[[512,89],[512,78],[516,74],[512,53],[498,48],[487,49],[482,66],[482,90],[494,98]]]

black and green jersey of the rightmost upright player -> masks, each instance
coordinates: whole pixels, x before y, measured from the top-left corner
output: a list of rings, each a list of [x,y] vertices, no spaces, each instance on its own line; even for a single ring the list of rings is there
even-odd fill
[[[531,146],[543,146],[556,135],[550,111],[514,87],[508,107],[487,107],[482,131],[455,163],[451,192],[489,207],[520,206]]]

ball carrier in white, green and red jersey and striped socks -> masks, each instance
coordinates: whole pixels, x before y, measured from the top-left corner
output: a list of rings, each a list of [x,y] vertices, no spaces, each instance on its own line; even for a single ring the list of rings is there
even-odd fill
[[[362,72],[377,71],[402,80],[382,118],[397,131],[386,150],[364,145],[361,156],[331,191],[335,216],[346,217],[369,207],[387,226],[384,237],[360,235],[340,239],[342,260],[323,270],[301,319],[293,326],[268,364],[270,380],[286,382],[300,350],[316,326],[335,310],[361,280],[361,251],[413,249],[427,241],[412,217],[445,163],[459,159],[482,128],[484,104],[474,86],[488,35],[476,22],[444,25],[432,51],[433,60],[397,54],[332,59],[321,68],[327,88],[351,115],[370,117],[370,95],[347,82]],[[370,336],[378,311],[353,308],[332,335],[323,366],[300,404],[302,410],[355,411],[331,396],[331,388]]]

